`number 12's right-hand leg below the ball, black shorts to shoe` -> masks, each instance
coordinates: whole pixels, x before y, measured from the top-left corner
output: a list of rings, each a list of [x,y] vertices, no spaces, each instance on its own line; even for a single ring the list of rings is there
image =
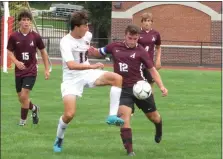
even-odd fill
[[[156,128],[155,141],[159,143],[162,139],[162,119],[156,109],[153,94],[146,100],[136,100],[137,106],[142,109],[146,117],[154,123]]]

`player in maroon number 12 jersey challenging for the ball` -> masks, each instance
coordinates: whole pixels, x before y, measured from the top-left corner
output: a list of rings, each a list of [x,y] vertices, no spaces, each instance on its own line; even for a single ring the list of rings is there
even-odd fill
[[[96,49],[91,47],[88,50],[90,55],[106,55],[111,53],[113,57],[114,72],[118,73],[123,78],[122,93],[120,97],[120,107],[118,114],[124,120],[124,125],[121,126],[121,138],[123,145],[129,156],[134,156],[132,147],[132,129],[130,127],[131,112],[134,104],[141,109],[149,120],[156,127],[155,141],[159,143],[162,137],[162,122],[153,95],[145,100],[139,100],[133,95],[133,85],[139,80],[145,80],[143,77],[142,66],[150,72],[154,81],[160,88],[162,95],[167,96],[168,90],[163,85],[161,77],[153,66],[153,62],[145,49],[138,45],[140,29],[135,25],[128,25],[125,30],[125,41],[115,42],[107,46]]]

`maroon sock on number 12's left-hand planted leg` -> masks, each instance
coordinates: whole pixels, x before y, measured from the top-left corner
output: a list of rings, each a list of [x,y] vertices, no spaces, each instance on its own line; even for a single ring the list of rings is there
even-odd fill
[[[132,129],[131,128],[121,128],[121,138],[127,153],[133,152],[132,148]]]

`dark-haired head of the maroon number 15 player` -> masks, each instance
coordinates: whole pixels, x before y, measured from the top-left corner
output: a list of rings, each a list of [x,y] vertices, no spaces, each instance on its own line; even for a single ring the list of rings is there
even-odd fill
[[[29,29],[32,23],[33,17],[32,13],[27,9],[23,9],[20,11],[18,15],[19,25],[22,29]]]

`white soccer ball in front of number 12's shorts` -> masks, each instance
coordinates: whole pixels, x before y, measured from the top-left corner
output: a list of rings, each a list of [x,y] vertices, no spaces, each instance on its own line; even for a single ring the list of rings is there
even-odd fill
[[[133,86],[133,94],[137,99],[144,100],[148,98],[152,93],[150,84],[146,81],[138,81]]]

